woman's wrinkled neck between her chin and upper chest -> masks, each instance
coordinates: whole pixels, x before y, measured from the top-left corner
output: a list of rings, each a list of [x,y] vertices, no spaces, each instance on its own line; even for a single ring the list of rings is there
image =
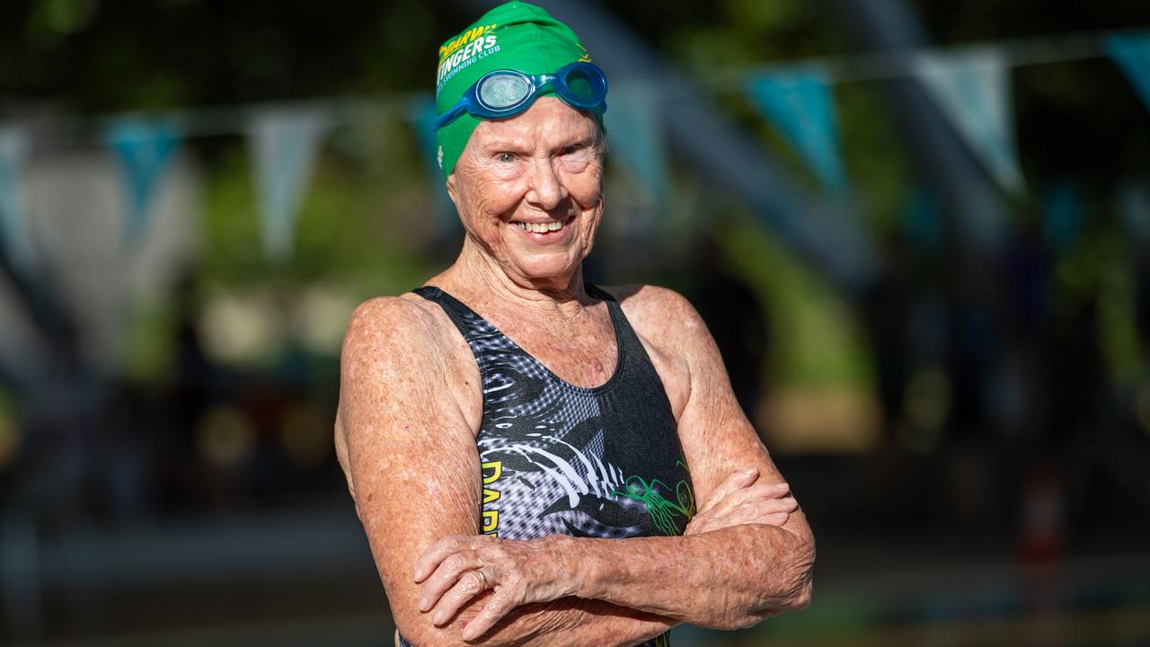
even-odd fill
[[[451,291],[466,292],[477,303],[493,303],[537,311],[577,311],[593,303],[583,284],[582,266],[542,279],[524,279],[506,272],[470,236],[446,272],[436,277],[452,284]]]

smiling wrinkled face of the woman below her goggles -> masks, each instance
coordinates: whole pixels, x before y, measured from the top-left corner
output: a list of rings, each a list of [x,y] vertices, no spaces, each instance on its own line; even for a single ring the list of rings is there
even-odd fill
[[[603,213],[603,138],[593,119],[540,97],[480,123],[447,192],[468,239],[522,286],[565,287]]]

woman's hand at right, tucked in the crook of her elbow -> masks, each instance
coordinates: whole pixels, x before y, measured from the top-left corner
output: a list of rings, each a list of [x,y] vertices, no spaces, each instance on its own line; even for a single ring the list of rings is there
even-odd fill
[[[683,534],[698,534],[739,524],[782,526],[790,513],[798,509],[798,501],[790,496],[787,484],[759,481],[759,470],[751,467],[727,477],[704,504]]]

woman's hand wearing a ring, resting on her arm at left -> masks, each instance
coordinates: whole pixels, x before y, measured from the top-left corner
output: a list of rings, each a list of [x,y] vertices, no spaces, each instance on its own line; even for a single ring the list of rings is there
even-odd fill
[[[463,640],[475,640],[515,607],[572,595],[577,569],[568,568],[562,558],[564,539],[445,536],[415,562],[415,583],[423,584],[419,609],[431,614],[436,626],[443,626],[467,602],[494,589],[478,615],[463,626]]]

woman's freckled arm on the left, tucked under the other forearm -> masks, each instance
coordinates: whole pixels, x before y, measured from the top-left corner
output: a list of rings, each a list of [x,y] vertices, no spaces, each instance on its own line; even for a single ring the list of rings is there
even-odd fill
[[[399,631],[416,647],[583,646],[637,645],[670,629],[667,618],[565,597],[516,609],[465,642],[462,626],[486,596],[443,627],[419,611],[419,556],[444,536],[478,533],[481,466],[466,411],[481,397],[480,375],[453,359],[459,343],[402,298],[360,306],[344,340],[336,443]]]

